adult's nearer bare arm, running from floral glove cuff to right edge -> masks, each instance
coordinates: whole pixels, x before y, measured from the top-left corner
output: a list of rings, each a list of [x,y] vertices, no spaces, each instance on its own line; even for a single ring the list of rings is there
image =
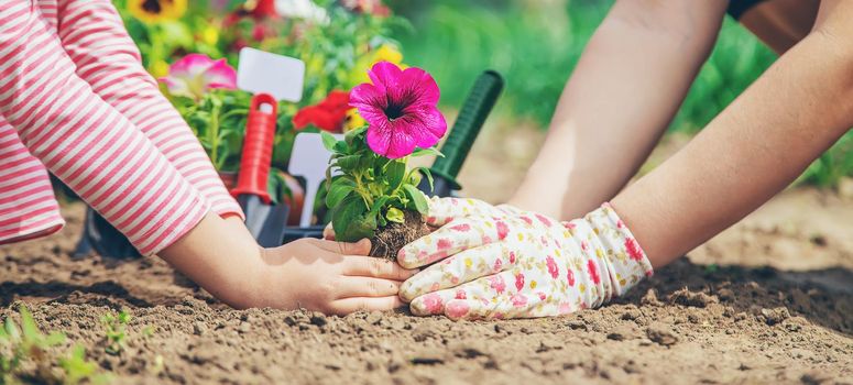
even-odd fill
[[[690,144],[613,199],[655,266],[740,220],[853,127],[853,2],[814,30]]]

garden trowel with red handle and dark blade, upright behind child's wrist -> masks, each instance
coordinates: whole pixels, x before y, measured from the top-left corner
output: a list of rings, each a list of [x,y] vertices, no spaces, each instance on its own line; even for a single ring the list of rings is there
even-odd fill
[[[273,157],[277,107],[278,102],[272,95],[258,94],[252,97],[237,187],[231,190],[231,195],[237,198],[245,213],[249,232],[264,248],[282,244],[288,212],[286,206],[273,205],[266,188]]]

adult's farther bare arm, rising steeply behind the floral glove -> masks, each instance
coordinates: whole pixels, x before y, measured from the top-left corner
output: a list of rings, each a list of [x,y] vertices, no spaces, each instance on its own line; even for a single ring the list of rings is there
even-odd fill
[[[617,1],[587,45],[548,139],[510,202],[569,219],[615,196],[681,105],[726,3]]]

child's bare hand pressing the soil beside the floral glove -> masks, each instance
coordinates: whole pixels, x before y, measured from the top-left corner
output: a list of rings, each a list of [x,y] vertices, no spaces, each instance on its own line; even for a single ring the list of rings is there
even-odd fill
[[[365,256],[370,241],[342,243],[303,239],[262,253],[265,263],[258,297],[250,306],[306,308],[346,315],[358,310],[391,310],[404,304],[397,296],[414,272],[396,263]]]

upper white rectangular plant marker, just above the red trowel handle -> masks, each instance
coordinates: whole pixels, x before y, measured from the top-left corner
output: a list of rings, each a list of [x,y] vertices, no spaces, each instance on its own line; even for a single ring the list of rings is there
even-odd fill
[[[252,94],[270,94],[276,100],[302,100],[305,63],[297,58],[255,48],[240,50],[237,88]]]

